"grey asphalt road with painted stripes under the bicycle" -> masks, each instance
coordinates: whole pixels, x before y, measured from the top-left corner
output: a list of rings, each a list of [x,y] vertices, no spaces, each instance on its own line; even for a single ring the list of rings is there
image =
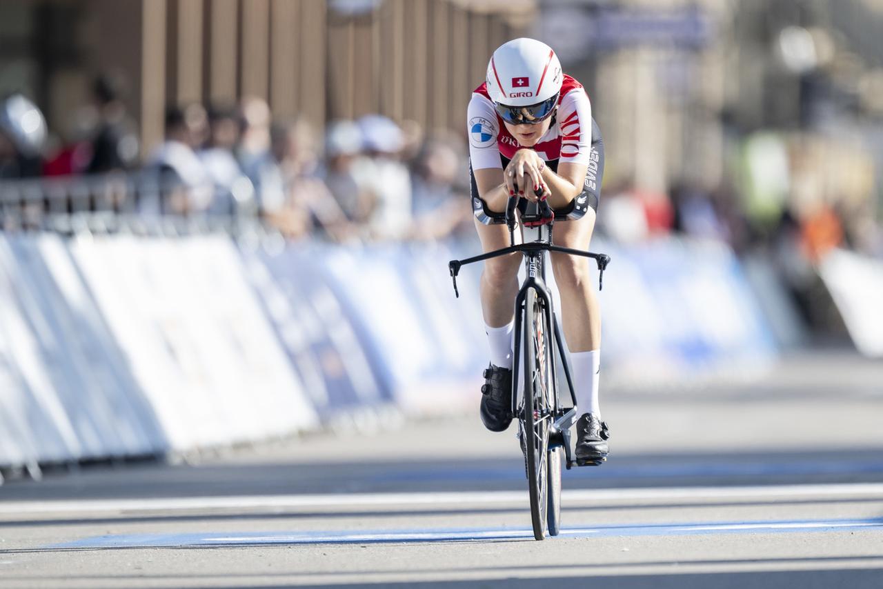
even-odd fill
[[[883,363],[815,352],[603,409],[610,460],[564,472],[555,539],[532,540],[514,427],[390,416],[7,480],[0,587],[883,586]]]

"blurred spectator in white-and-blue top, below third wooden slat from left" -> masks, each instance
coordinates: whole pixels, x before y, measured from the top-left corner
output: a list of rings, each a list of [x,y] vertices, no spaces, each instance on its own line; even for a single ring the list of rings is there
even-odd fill
[[[215,187],[210,212],[234,214],[253,204],[254,187],[239,167],[233,150],[239,143],[236,109],[208,111],[208,141],[198,155]]]

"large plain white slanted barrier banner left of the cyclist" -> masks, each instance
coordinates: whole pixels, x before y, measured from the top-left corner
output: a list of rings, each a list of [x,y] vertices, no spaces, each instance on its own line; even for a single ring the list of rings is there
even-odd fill
[[[72,250],[171,449],[313,426],[228,238],[116,236]]]

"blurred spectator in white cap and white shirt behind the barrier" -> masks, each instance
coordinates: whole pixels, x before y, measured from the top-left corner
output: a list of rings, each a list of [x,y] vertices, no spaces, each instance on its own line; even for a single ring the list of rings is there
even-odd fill
[[[357,181],[374,194],[368,217],[372,238],[401,239],[411,230],[411,176],[401,161],[402,130],[388,117],[366,115],[358,121],[366,157],[358,160]]]

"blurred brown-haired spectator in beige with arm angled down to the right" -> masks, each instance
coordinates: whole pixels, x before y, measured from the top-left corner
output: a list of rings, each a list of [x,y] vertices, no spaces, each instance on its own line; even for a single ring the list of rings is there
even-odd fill
[[[317,176],[318,148],[310,125],[303,120],[274,125],[272,146],[283,178],[284,202],[268,213],[268,221],[289,238],[306,237],[314,229],[337,241],[351,236],[343,209]]]

